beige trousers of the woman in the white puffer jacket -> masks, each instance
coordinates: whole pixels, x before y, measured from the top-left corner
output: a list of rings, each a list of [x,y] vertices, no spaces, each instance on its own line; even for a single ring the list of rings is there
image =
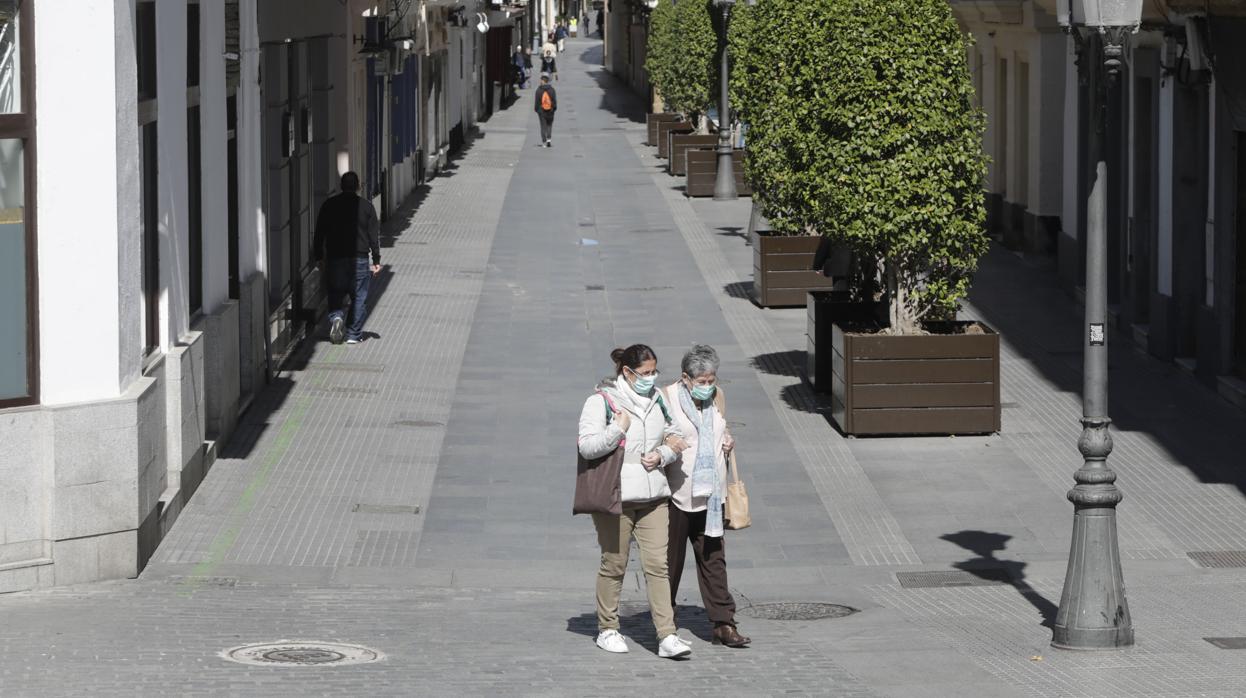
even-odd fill
[[[670,578],[667,575],[669,521],[667,500],[658,504],[623,504],[623,514],[594,514],[597,542],[602,546],[602,567],[597,571],[597,627],[619,628],[619,595],[632,547],[632,536],[640,548],[644,586],[649,592],[649,612],[660,642],[675,633],[675,611],[670,605]]]

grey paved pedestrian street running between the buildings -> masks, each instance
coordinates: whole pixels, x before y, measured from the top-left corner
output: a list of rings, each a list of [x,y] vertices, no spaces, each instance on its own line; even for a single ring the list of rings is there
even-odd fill
[[[1003,335],[1001,434],[845,439],[800,379],[805,310],[748,299],[749,201],[684,198],[598,41],[559,66],[553,147],[531,90],[482,125],[383,236],[370,338],[304,343],[137,580],[0,597],[0,696],[1246,694],[1246,652],[1204,639],[1246,637],[1246,414],[1114,338],[1138,643],[1052,649],[1082,430],[1080,310],[1052,263],[996,247],[966,308]],[[658,658],[635,553],[632,652],[593,644],[576,423],[638,342],[669,379],[693,343],[723,356],[748,649],[709,642],[689,568],[692,658]],[[776,603],[857,612],[768,619]],[[313,641],[380,658],[222,657]]]

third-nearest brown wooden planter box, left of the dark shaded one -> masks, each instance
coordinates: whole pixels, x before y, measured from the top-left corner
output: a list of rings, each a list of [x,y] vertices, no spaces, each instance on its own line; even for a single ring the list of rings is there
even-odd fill
[[[697,151],[689,151],[689,156]],[[692,174],[688,176],[689,183]],[[710,194],[714,184],[710,182]],[[812,270],[817,236],[781,237],[754,233],[753,300],[763,308],[796,308],[810,290],[830,290],[835,279]]]

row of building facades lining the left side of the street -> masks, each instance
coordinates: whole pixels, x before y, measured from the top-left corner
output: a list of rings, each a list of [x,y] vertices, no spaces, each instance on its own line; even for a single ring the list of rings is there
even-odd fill
[[[323,315],[320,203],[354,170],[389,216],[445,167],[522,16],[0,0],[0,592],[143,567]]]

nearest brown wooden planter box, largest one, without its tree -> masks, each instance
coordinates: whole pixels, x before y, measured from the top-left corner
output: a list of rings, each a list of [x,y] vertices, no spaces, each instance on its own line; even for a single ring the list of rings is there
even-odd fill
[[[856,435],[999,431],[999,335],[982,327],[890,337],[832,324],[831,418]]]

